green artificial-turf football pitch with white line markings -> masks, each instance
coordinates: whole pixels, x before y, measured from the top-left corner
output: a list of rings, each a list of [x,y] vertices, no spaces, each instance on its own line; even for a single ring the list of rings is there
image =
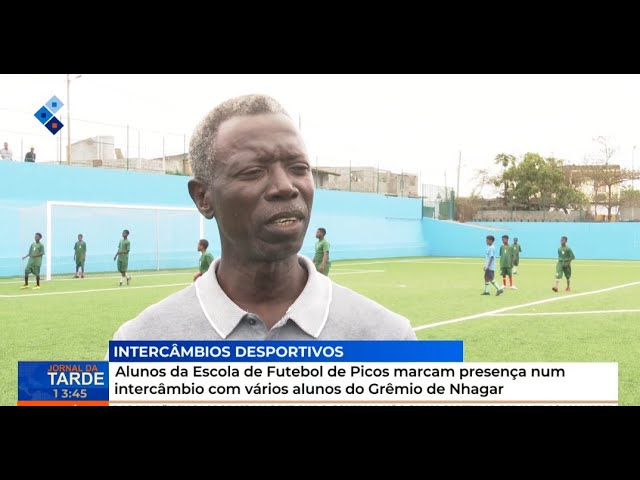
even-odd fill
[[[555,260],[521,259],[517,290],[481,296],[482,259],[333,262],[331,278],[411,320],[419,339],[464,341],[471,362],[618,362],[620,405],[640,405],[640,262],[576,260],[554,293]],[[117,328],[191,283],[195,270],[54,277],[40,290],[0,279],[0,405],[17,400],[18,360],[96,360]],[[30,284],[35,285],[33,277]]]

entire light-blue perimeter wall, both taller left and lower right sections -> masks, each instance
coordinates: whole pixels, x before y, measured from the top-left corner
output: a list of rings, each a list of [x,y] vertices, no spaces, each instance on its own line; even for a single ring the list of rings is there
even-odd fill
[[[20,257],[45,234],[47,200],[193,207],[187,177],[121,170],[0,161],[0,276],[19,275]],[[640,260],[638,223],[459,224],[422,219],[419,199],[317,190],[311,223],[301,253],[312,257],[315,231],[327,229],[334,260],[406,256],[482,257],[485,237],[519,237],[523,257],[552,258],[560,236],[567,235],[578,258]],[[121,232],[131,231],[130,268],[197,266],[197,212],[54,210],[54,273],[74,271],[73,243],[83,233],[87,271],[115,270],[113,254]],[[215,220],[205,221],[205,237],[220,255]],[[46,239],[45,239],[46,240]],[[51,254],[51,252],[47,252]]]

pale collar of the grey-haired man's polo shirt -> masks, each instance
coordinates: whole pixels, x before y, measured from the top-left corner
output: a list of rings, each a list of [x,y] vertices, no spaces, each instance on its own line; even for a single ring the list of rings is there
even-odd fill
[[[307,270],[307,283],[300,296],[285,313],[284,319],[294,321],[302,330],[318,338],[327,323],[332,298],[331,280],[318,273],[314,264],[298,255],[298,262]],[[220,258],[195,283],[196,296],[205,317],[222,338],[227,338],[248,313],[233,303],[220,287],[216,271]]]

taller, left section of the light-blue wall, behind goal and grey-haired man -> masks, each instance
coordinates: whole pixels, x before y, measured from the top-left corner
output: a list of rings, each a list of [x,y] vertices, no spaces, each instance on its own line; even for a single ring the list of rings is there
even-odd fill
[[[193,207],[188,180],[174,175],[0,161],[0,276],[19,275],[24,270],[20,257],[33,241],[33,234],[46,233],[47,200]],[[419,199],[317,190],[301,253],[313,256],[316,228],[324,227],[334,260],[426,255],[421,215]],[[125,228],[131,231],[132,270],[197,266],[196,212],[160,212],[156,218],[155,213],[140,210],[55,207],[53,272],[74,271],[72,248],[78,233],[87,242],[87,271],[115,270],[113,254]],[[212,243],[212,253],[219,256],[215,220],[205,221],[205,238]]]

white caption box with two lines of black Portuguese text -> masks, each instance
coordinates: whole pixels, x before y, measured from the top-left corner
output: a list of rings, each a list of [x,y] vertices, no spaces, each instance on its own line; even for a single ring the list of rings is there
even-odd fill
[[[617,363],[120,363],[113,405],[617,405]]]

